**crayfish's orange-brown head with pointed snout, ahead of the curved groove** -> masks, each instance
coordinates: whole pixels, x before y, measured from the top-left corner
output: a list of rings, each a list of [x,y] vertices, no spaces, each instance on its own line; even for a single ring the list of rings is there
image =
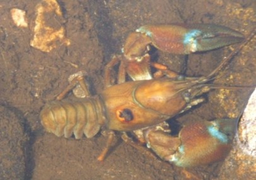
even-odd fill
[[[163,78],[140,84],[134,91],[134,99],[140,106],[172,117],[201,103],[202,98],[197,96],[210,89],[206,84],[198,84],[197,78],[193,81]]]

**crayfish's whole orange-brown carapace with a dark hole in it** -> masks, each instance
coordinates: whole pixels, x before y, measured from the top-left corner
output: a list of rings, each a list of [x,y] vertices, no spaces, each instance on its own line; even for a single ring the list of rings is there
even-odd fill
[[[132,131],[151,127],[182,112],[190,102],[184,92],[192,84],[170,78],[130,81],[105,89],[107,128]]]

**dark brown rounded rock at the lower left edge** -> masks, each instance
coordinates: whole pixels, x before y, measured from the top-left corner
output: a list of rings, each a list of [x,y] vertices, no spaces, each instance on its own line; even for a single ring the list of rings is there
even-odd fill
[[[0,106],[0,179],[25,178],[25,142],[21,120]]]

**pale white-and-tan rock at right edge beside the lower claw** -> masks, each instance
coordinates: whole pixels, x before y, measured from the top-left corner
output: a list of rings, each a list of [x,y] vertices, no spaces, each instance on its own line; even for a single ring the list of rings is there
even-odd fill
[[[256,89],[253,91],[238,126],[230,155],[218,179],[255,179],[256,177]],[[232,173],[230,173],[232,172]]]

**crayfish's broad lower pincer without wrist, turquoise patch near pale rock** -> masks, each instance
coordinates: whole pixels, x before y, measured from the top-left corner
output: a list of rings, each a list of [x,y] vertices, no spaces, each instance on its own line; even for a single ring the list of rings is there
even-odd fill
[[[231,150],[236,119],[191,123],[180,134],[182,145],[170,162],[180,167],[199,166],[224,160]]]

